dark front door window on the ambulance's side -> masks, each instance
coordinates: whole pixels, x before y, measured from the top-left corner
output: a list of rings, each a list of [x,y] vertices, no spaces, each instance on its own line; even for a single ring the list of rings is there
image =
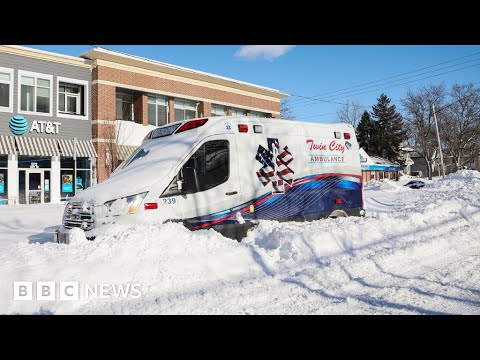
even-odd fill
[[[213,140],[203,144],[182,167],[161,197],[193,194],[209,190],[228,180],[230,153],[227,140]],[[182,179],[182,191],[178,191],[177,180]]]

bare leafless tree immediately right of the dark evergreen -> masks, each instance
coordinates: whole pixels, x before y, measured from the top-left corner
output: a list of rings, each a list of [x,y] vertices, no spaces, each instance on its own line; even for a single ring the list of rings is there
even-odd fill
[[[436,149],[435,119],[432,104],[440,108],[445,104],[445,85],[422,86],[416,92],[408,91],[402,105],[406,110],[406,128],[410,144],[425,159],[428,178],[432,179]]]

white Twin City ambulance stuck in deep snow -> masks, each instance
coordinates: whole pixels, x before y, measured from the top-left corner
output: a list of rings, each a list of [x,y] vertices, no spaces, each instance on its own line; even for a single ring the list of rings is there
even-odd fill
[[[241,238],[261,219],[363,216],[358,151],[343,123],[219,116],[164,125],[66,205],[56,239],[147,217]]]

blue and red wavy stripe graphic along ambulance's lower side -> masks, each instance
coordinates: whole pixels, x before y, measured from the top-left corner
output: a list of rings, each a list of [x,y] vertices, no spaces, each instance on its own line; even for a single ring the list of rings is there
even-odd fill
[[[345,209],[362,208],[362,178],[353,174],[318,174],[292,181],[284,194],[268,192],[235,208],[188,219],[194,229],[234,224],[240,212],[246,221],[288,219],[330,212],[335,199]],[[250,212],[250,205],[254,212]]]

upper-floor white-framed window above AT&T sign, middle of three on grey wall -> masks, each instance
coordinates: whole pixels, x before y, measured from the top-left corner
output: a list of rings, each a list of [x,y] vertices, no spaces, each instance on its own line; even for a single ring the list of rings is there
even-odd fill
[[[20,110],[51,115],[53,77],[21,70],[18,73],[20,77]]]

